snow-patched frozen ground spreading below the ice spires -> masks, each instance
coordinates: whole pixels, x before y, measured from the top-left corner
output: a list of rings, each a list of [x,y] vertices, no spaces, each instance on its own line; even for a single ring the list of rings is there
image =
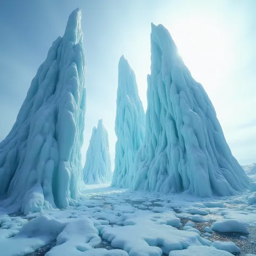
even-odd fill
[[[256,205],[247,203],[246,194],[201,199],[134,192],[110,184],[88,185],[84,194],[66,210],[26,216],[2,213],[0,256],[256,253]],[[215,223],[220,220],[224,222]],[[225,232],[214,231],[219,228]],[[211,245],[216,240],[235,244],[215,242],[226,251],[217,250]]]

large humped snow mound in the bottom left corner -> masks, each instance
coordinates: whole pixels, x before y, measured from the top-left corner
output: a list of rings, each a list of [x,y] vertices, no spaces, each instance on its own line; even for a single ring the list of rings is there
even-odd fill
[[[53,240],[57,240],[56,246],[45,256],[128,256],[122,250],[110,253],[102,248],[93,249],[101,239],[89,218],[56,219],[48,215],[29,221],[15,237],[1,239],[1,253],[5,256],[27,255]]]

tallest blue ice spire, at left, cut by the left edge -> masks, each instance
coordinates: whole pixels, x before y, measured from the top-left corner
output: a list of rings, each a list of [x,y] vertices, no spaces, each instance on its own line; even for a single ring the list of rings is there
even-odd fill
[[[33,78],[8,136],[0,143],[0,207],[24,214],[64,208],[84,186],[80,149],[85,114],[81,11],[69,17]]]

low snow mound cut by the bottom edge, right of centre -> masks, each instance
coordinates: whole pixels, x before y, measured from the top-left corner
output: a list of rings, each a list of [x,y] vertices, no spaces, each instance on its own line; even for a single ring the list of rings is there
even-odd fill
[[[190,246],[186,250],[182,251],[172,251],[169,256],[233,256],[233,254],[218,250],[213,246]]]

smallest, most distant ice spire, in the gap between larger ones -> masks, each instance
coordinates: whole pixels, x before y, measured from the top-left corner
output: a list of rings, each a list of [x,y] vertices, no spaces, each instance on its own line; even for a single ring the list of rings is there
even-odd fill
[[[85,184],[110,182],[112,178],[109,136],[102,119],[93,127],[84,165]]]

